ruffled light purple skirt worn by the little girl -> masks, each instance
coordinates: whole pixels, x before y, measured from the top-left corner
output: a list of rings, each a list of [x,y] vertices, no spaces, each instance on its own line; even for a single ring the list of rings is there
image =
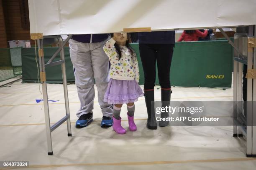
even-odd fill
[[[115,80],[110,78],[104,102],[108,104],[124,104],[138,101],[143,91],[136,80]]]

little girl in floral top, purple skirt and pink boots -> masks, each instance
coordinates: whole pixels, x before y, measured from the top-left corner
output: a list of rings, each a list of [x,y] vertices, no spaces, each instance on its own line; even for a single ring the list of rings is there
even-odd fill
[[[118,134],[125,134],[121,126],[120,111],[124,103],[127,104],[128,124],[131,131],[136,131],[134,123],[134,102],[143,96],[143,91],[138,85],[139,71],[138,60],[135,52],[129,45],[128,33],[114,33],[108,40],[103,50],[110,60],[110,81],[104,96],[104,101],[113,104],[113,130]]]

